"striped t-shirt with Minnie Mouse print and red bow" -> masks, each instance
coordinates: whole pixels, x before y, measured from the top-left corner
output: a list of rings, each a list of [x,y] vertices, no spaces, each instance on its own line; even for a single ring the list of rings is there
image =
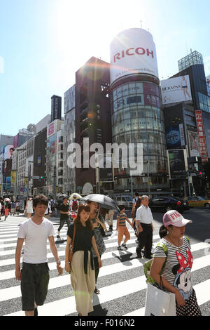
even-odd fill
[[[180,248],[169,243],[165,238],[160,239],[160,243],[165,244],[168,251],[162,277],[164,277],[169,284],[176,287],[186,300],[189,298],[192,291],[190,271],[193,266],[193,256],[190,252],[190,243],[184,236],[183,245],[180,246]],[[163,251],[161,246],[156,246],[154,256],[155,258],[166,258],[165,251]]]

